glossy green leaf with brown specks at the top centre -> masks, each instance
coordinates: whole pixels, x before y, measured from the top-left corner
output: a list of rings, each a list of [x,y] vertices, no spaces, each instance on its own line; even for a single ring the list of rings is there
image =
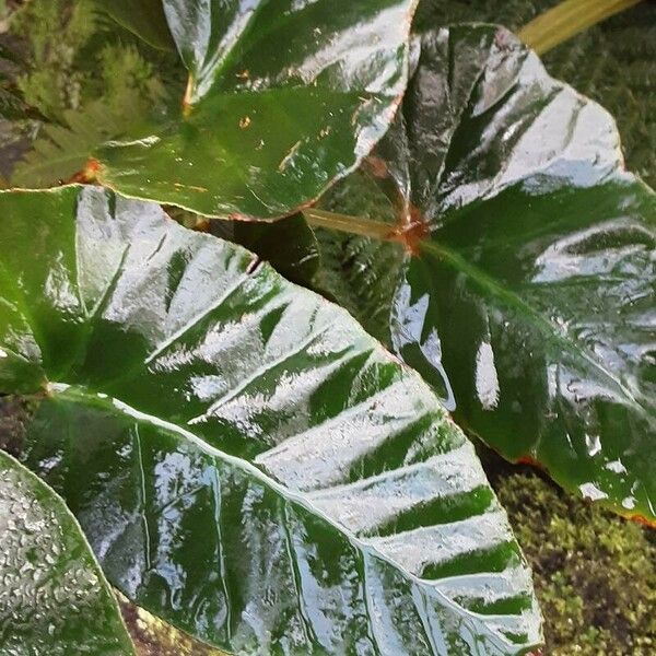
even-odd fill
[[[414,0],[163,0],[184,112],[94,153],[87,175],[204,215],[311,202],[385,133],[407,82]]]

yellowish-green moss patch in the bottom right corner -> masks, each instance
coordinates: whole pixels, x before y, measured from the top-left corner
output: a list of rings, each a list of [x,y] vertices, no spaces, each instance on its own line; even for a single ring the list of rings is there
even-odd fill
[[[656,654],[653,531],[505,469],[495,485],[534,569],[548,653]]]

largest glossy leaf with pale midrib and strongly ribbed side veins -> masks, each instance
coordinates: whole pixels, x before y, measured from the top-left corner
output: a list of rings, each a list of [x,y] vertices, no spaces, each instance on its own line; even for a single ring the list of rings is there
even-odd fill
[[[344,311],[94,187],[0,195],[0,391],[130,599],[239,654],[539,641],[471,444]]]

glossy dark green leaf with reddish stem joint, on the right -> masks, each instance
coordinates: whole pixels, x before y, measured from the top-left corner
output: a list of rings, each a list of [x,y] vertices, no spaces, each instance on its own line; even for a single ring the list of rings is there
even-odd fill
[[[610,116],[505,30],[421,50],[378,149],[414,249],[396,350],[506,457],[656,519],[656,196]]]

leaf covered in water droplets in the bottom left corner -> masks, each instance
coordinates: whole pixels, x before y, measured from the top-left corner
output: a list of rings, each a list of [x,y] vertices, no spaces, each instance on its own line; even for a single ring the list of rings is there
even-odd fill
[[[43,481],[0,452],[0,652],[133,655],[80,526]]]

